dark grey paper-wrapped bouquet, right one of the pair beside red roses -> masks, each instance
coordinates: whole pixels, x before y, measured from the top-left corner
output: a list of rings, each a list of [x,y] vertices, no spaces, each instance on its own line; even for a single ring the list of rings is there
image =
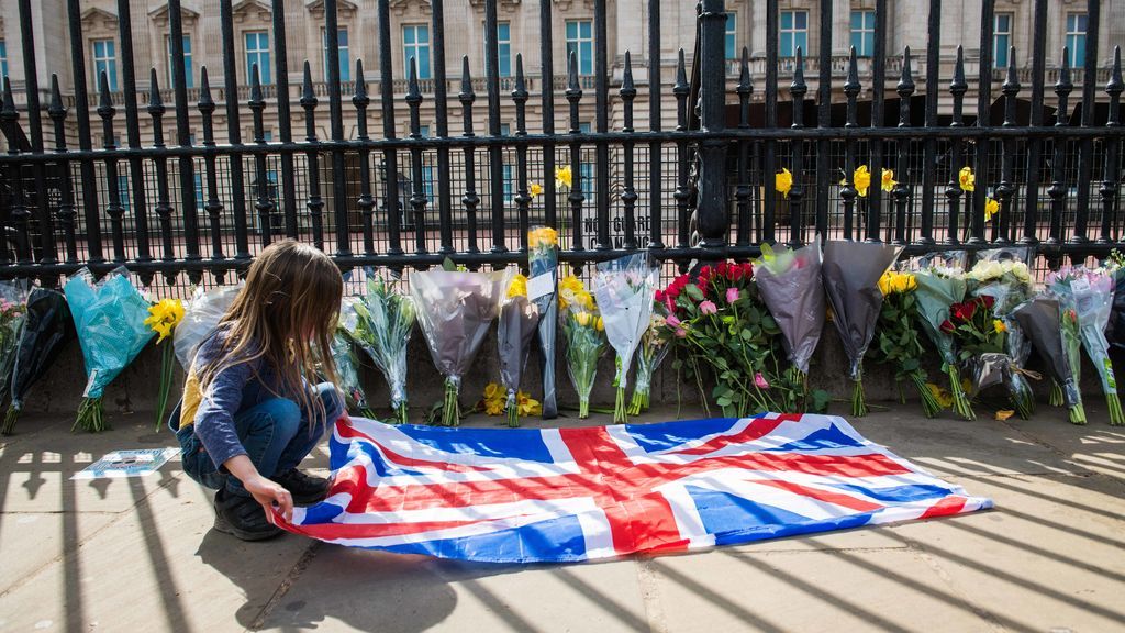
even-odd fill
[[[824,282],[832,323],[850,362],[852,414],[867,414],[863,395],[863,355],[875,333],[883,305],[879,279],[898,259],[901,247],[862,242],[828,242],[825,247]]]

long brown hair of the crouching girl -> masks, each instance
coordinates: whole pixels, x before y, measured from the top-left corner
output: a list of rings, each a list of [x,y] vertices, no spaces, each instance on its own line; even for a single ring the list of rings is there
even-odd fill
[[[201,391],[206,393],[224,369],[261,359],[277,369],[282,393],[276,395],[295,400],[310,425],[325,416],[324,403],[306,386],[305,377],[315,382],[320,373],[339,384],[327,350],[342,296],[343,277],[326,255],[292,240],[268,247],[250,266],[245,287],[219,321],[227,328],[226,338],[214,360],[199,368]]]

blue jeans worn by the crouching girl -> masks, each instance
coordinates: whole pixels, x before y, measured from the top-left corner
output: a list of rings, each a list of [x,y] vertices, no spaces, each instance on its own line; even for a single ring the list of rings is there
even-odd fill
[[[274,476],[297,467],[324,437],[328,425],[344,412],[344,403],[331,383],[316,385],[326,416],[309,424],[302,408],[285,398],[271,398],[243,409],[234,416],[238,440],[246,456],[262,476]],[[320,416],[317,416],[320,418]],[[183,455],[183,472],[207,488],[225,489],[231,494],[249,496],[238,478],[216,466],[202,449],[194,427],[177,433]]]

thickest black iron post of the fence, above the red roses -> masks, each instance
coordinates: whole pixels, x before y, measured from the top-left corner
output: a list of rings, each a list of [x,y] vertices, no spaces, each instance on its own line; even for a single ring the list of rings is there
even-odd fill
[[[726,127],[727,70],[723,0],[701,0],[700,6],[700,126],[709,134]],[[727,246],[730,213],[727,208],[727,141],[709,136],[700,142],[699,230],[705,249]]]

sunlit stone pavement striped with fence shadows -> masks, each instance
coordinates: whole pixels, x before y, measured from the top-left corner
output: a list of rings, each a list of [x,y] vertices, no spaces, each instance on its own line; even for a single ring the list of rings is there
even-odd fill
[[[1088,427],[1045,405],[1027,422],[902,408],[855,424],[991,511],[557,567],[241,543],[210,529],[210,496],[176,462],[70,480],[109,451],[174,445],[150,416],[97,436],[28,416],[0,438],[0,631],[1122,631],[1125,428],[1099,404]]]

